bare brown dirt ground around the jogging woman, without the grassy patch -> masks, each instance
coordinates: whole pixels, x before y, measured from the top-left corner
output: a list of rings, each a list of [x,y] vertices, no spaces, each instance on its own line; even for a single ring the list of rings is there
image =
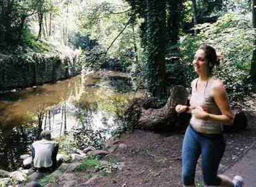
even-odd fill
[[[252,148],[256,141],[256,100],[244,103],[245,113],[249,119],[247,130],[238,133],[224,134],[226,151],[220,164],[219,173],[224,173]],[[239,107],[237,105],[237,107]],[[181,148],[183,133],[159,134],[135,130],[124,135],[119,143],[127,148],[118,148],[108,158],[125,162],[125,167],[106,177],[93,181],[90,186],[96,187],[166,187],[182,186],[181,184]],[[202,181],[198,162],[196,180]]]

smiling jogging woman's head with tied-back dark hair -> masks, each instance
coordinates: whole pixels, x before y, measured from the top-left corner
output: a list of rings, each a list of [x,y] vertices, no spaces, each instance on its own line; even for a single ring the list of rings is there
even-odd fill
[[[218,60],[216,50],[213,47],[203,44],[198,48],[193,61],[195,73],[210,74],[212,73],[213,68],[219,64],[220,61]]]

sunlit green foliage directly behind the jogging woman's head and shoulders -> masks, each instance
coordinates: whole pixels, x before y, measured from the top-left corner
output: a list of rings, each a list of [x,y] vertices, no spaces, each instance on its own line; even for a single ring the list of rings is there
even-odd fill
[[[224,57],[223,65],[216,70],[215,76],[224,82],[229,100],[241,100],[245,95],[249,95],[252,91],[249,69],[254,38],[251,22],[250,14],[227,13],[215,23],[198,25],[198,36],[181,37],[177,56],[184,64],[187,86],[196,77],[191,65],[194,53],[200,44],[207,43]]]

